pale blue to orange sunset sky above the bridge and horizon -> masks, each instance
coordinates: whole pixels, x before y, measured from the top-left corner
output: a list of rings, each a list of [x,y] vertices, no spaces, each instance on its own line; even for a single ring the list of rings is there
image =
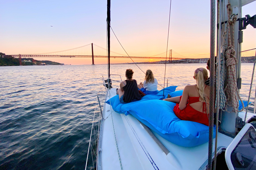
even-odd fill
[[[107,1],[2,0],[0,52],[30,54],[59,51],[95,43],[106,48]],[[130,56],[166,51],[170,1],[111,1],[111,27]],[[256,13],[256,2],[242,8],[242,16]],[[51,27],[53,26],[53,27]],[[242,50],[255,48],[256,30],[247,26]],[[209,57],[210,0],[178,1],[171,6],[168,50],[187,58]],[[111,51],[125,54],[111,32]],[[242,53],[254,56],[255,50]],[[91,58],[34,58],[65,64],[91,64]],[[157,59],[153,59],[155,61]],[[95,64],[106,59],[95,58]],[[149,59],[134,59],[135,62]],[[111,59],[111,63],[132,62]]]

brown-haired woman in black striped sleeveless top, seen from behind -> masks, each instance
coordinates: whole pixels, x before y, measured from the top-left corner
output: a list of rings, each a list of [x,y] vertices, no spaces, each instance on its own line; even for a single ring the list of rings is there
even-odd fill
[[[132,78],[133,73],[132,69],[126,70],[126,80],[120,83],[120,89],[117,91],[120,102],[123,104],[135,102],[141,99],[137,81]]]

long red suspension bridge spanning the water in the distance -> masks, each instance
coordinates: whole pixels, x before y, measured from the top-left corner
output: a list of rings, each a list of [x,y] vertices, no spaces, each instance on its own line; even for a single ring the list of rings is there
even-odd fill
[[[152,56],[128,56],[120,53],[116,53],[111,51],[110,52],[110,58],[150,58],[150,59],[162,59],[166,60],[169,58],[169,63],[172,62],[172,60],[177,59],[186,59],[181,54],[175,52],[174,50],[170,49],[169,55],[166,54],[166,52],[152,55]],[[175,57],[173,57],[175,55]],[[27,57],[91,57],[92,58],[92,64],[94,64],[94,58],[106,58],[107,56],[107,49],[100,47],[99,45],[90,43],[84,46],[80,46],[77,48],[62,50],[62,51],[54,51],[54,52],[45,52],[45,53],[34,53],[34,54],[14,54],[9,55],[12,57],[19,57],[20,65],[21,64],[21,58],[27,58]]]

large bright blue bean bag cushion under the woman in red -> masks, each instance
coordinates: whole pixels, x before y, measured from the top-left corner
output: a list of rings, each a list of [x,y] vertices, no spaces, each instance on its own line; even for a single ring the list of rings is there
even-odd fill
[[[159,92],[161,94],[161,91]],[[164,93],[166,94],[166,92],[168,90],[165,89]],[[169,91],[169,93],[171,92]],[[173,112],[176,104],[159,99],[162,99],[161,95],[146,95],[140,101],[120,104],[117,95],[106,103],[111,104],[118,113],[133,115],[147,127],[174,144],[192,147],[208,141],[208,126],[180,120]],[[215,137],[215,128],[213,135]]]

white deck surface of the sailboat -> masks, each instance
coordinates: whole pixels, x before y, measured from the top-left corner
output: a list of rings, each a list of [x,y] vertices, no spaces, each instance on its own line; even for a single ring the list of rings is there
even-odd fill
[[[112,88],[110,93],[111,97],[115,96],[116,89]],[[106,101],[108,99],[109,97],[107,96]],[[108,110],[110,111],[107,112]],[[103,170],[121,169],[121,164],[124,170],[198,170],[207,161],[208,142],[195,147],[182,147],[165,140],[154,132],[157,138],[170,151],[166,155],[136,118],[132,115],[125,116],[112,111],[113,109],[110,105],[105,103],[103,117],[104,119],[108,118],[103,122],[102,151],[100,153],[101,160],[99,160],[100,167]],[[218,133],[218,147],[228,147],[232,140],[233,138]],[[213,148],[214,145],[215,139]]]

